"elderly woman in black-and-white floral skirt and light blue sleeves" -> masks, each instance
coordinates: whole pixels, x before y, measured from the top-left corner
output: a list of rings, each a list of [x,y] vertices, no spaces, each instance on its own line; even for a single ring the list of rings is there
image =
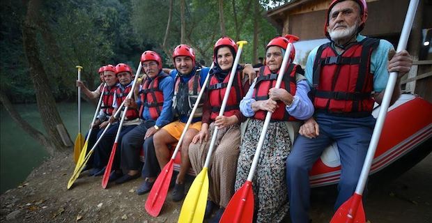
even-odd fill
[[[295,126],[300,126],[301,120],[314,114],[307,96],[309,85],[300,66],[288,63],[280,89],[275,89],[287,46],[288,40],[284,37],[270,40],[265,52],[265,66],[260,68],[258,77],[240,102],[240,111],[250,118],[244,123],[246,129],[238,157],[236,190],[247,180],[265,115],[273,112],[252,180],[256,222],[281,222],[288,213],[285,160],[297,132]],[[294,56],[292,47],[290,61]]]

